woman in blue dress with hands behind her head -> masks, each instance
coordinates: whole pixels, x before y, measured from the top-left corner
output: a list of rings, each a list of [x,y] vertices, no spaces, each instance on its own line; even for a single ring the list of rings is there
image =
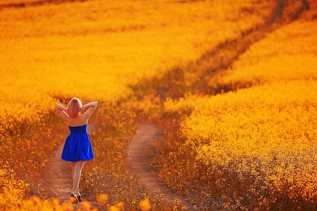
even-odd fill
[[[73,186],[70,196],[73,202],[82,201],[78,188],[82,169],[85,161],[95,157],[87,132],[87,125],[88,119],[96,110],[97,105],[97,101],[83,105],[78,98],[72,98],[67,107],[58,103],[55,104],[58,113],[70,130],[70,135],[67,137],[63,148],[62,159],[69,161],[71,165]]]

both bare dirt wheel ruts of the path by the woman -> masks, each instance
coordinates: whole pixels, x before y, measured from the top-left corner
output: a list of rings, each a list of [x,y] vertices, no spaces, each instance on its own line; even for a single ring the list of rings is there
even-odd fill
[[[88,132],[92,133],[96,130],[96,123],[90,123],[88,125]],[[151,142],[157,138],[156,126],[153,123],[140,123],[138,134],[136,134],[127,146],[126,152],[126,167],[130,174],[134,174],[140,177],[140,181],[150,185],[152,190],[157,195],[162,196],[169,202],[173,203],[177,198],[183,205],[187,207],[187,210],[195,210],[182,196],[174,194],[167,187],[166,183],[154,175],[152,170],[147,166],[148,154],[146,153],[151,146]],[[65,137],[66,138],[66,137]],[[64,142],[56,146],[54,155],[49,158],[48,164],[44,167],[45,176],[44,179],[47,183],[47,187],[51,187],[56,198],[60,199],[61,203],[70,202],[70,191],[72,188],[71,181],[71,167],[67,161],[61,159]],[[84,199],[85,195],[82,194]],[[91,204],[94,204],[90,201]],[[80,208],[81,203],[73,203],[75,210]]]

